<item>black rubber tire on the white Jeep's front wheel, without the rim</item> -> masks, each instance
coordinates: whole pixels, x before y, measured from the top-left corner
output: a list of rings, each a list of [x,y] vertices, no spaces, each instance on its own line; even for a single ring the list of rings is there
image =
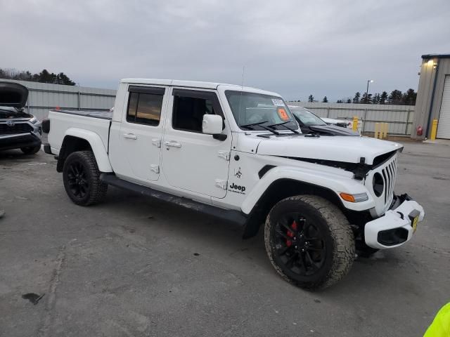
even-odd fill
[[[315,221],[326,243],[323,264],[313,275],[296,276],[283,265],[276,253],[277,218],[283,213],[302,212]],[[264,226],[264,242],[269,260],[281,277],[304,289],[324,289],[347,275],[355,257],[354,234],[347,218],[337,206],[315,195],[298,195],[279,201],[269,212]]]

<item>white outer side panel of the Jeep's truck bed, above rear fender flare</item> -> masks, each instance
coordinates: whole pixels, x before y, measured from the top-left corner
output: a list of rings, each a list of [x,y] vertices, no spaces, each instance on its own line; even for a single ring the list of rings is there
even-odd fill
[[[96,133],[108,149],[108,137],[113,112],[101,110],[50,110],[49,144],[51,152],[59,154],[63,140],[67,135],[92,131]]]

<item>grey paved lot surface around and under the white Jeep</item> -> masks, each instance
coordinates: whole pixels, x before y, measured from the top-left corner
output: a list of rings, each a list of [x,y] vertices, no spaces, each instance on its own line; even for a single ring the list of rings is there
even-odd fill
[[[450,301],[450,146],[406,143],[400,164],[416,237],[311,293],[261,235],[113,188],[75,206],[51,156],[0,153],[0,336],[422,336]]]

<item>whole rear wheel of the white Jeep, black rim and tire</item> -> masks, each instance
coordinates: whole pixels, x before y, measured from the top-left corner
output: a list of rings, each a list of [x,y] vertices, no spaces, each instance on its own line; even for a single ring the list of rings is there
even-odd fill
[[[89,206],[102,201],[108,185],[100,180],[97,161],[91,151],[72,152],[64,162],[65,192],[77,205]]]

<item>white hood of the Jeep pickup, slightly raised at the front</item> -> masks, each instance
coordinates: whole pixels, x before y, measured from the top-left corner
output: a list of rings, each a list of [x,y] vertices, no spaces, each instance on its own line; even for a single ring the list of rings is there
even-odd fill
[[[368,137],[301,135],[264,139],[258,145],[257,154],[347,163],[359,163],[364,157],[365,163],[371,165],[375,157],[402,147],[398,143]]]

